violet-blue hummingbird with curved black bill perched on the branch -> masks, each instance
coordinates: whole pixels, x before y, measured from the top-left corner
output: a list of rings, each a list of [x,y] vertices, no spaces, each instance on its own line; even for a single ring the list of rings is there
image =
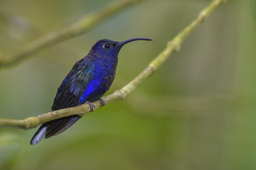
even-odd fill
[[[76,62],[68,75],[60,84],[53,101],[52,111],[70,108],[88,103],[93,110],[92,101],[100,98],[110,89],[117,69],[118,52],[123,45],[134,40],[151,40],[149,38],[131,38],[121,42],[99,40],[90,52]],[[64,132],[81,117],[70,115],[43,123],[31,140],[36,145],[43,139]]]

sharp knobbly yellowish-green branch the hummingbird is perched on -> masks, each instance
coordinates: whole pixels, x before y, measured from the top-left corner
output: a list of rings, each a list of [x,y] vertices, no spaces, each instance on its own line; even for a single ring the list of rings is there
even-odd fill
[[[185,40],[188,35],[190,35],[195,28],[197,28],[207,16],[210,15],[211,12],[215,10],[220,4],[223,4],[225,0],[214,0],[212,1],[206,8],[203,9],[196,17],[194,21],[192,21],[185,29],[178,33],[176,37],[169,41],[166,45],[166,48],[152,61],[149,63],[149,66],[146,67],[137,77],[135,77],[129,84],[125,85],[122,89],[115,91],[113,94],[109,96],[103,97],[103,101],[105,101],[105,105],[108,103],[112,103],[113,101],[117,100],[124,100],[126,96],[132,93],[134,89],[137,88],[139,84],[144,81],[144,79],[150,77],[156,70],[164,64],[164,62],[169,58],[169,56],[173,52],[177,52],[183,40]],[[92,102],[95,105],[95,109],[99,108],[101,105],[100,101]],[[85,115],[86,113],[90,112],[90,107],[88,104],[84,104],[81,106],[76,106],[73,108],[65,108],[58,111],[53,111],[49,113],[45,113],[42,115],[29,117],[23,120],[14,120],[14,119],[0,119],[0,125],[18,127],[23,129],[28,128],[35,128],[36,126],[40,125],[41,123],[46,123],[50,120],[55,120],[57,118],[63,118],[68,115]]]

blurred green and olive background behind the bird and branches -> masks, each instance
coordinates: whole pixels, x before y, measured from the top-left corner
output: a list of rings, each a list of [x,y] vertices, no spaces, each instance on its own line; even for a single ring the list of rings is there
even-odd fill
[[[5,54],[111,1],[0,0]],[[119,53],[114,84],[134,78],[209,0],[142,1],[85,35],[0,70],[0,117],[50,111],[73,64],[100,39],[151,38]],[[29,145],[37,128],[0,128],[0,169],[256,169],[256,1],[230,0],[125,101],[85,115],[62,135]]]

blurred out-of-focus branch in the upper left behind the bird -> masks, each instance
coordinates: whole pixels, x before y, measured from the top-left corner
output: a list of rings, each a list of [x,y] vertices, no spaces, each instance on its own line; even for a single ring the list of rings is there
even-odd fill
[[[127,6],[136,4],[139,1],[142,0],[115,1],[114,3],[109,4],[100,11],[91,13],[88,16],[83,16],[82,18],[80,18],[80,20],[78,20],[76,23],[74,23],[72,26],[69,26],[68,28],[64,28],[63,30],[56,30],[55,32],[49,33],[48,35],[43,35],[43,37],[38,38],[38,40],[31,42],[25,47],[21,47],[20,49],[11,52],[8,55],[1,55],[0,68],[11,66],[13,67],[14,64],[22,62],[38,50],[49,47],[50,45],[55,45],[58,42],[62,42],[64,40],[74,38],[75,36],[87,33],[92,28],[95,28],[95,26],[97,26],[99,23],[104,21],[107,17],[110,17],[114,13],[121,11]]]

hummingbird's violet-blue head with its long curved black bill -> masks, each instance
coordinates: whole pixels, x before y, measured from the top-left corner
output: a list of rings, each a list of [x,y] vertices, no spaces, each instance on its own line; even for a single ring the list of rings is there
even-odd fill
[[[132,42],[135,40],[151,40],[149,38],[131,38],[124,41],[113,41],[108,39],[99,40],[93,45],[92,50],[90,52],[94,53],[99,57],[117,57],[120,49],[127,44],[128,42]]]

